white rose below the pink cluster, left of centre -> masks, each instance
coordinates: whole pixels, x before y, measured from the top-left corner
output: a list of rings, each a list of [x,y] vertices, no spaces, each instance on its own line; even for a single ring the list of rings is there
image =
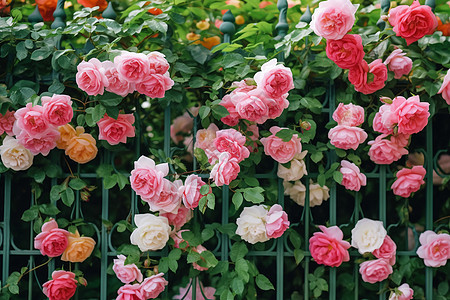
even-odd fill
[[[138,214],[134,216],[134,222],[137,228],[130,236],[133,245],[137,245],[142,252],[164,248],[171,231],[166,217]]]

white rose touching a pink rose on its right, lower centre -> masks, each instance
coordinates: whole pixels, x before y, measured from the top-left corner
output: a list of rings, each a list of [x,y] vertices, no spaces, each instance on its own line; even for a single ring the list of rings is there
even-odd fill
[[[262,205],[245,207],[236,220],[238,228],[236,234],[250,244],[268,241],[266,234],[267,210]]]

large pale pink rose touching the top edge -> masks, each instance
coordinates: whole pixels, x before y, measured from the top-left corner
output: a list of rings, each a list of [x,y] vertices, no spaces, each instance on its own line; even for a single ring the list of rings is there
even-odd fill
[[[355,23],[356,6],[349,0],[328,0],[319,3],[310,27],[327,40],[342,39]]]

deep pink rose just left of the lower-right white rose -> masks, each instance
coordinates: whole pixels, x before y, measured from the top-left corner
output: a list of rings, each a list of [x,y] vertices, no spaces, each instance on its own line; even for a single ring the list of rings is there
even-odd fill
[[[344,241],[344,234],[337,226],[325,227],[319,225],[322,232],[314,232],[309,239],[309,251],[316,263],[330,267],[339,267],[342,262],[349,261],[348,248],[350,243]]]

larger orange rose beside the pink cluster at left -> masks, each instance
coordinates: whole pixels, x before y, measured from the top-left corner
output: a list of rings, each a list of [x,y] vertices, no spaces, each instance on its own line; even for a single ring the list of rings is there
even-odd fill
[[[66,148],[66,155],[80,164],[85,164],[97,156],[96,141],[89,133],[84,133],[84,128],[77,126],[77,136],[70,140]]]

